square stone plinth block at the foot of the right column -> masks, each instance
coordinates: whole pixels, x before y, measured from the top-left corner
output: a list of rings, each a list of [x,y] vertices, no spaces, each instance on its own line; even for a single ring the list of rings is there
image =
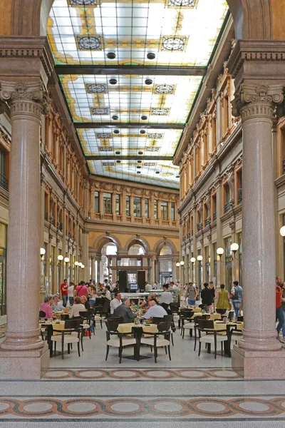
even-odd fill
[[[248,351],[234,346],[232,368],[244,379],[285,379],[285,349]]]

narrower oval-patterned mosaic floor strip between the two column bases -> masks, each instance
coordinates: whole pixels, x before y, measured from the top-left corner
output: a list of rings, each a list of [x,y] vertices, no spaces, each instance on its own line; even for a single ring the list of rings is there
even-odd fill
[[[122,381],[122,380],[240,380],[239,376],[231,367],[214,369],[195,369],[190,367],[180,369],[167,368],[144,368],[144,369],[101,369],[101,368],[52,368],[46,372],[43,380],[100,380],[100,381]]]

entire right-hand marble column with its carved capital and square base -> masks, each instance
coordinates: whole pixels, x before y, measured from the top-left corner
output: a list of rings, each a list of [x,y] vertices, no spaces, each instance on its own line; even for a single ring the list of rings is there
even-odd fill
[[[283,101],[282,85],[242,83],[235,93],[234,116],[242,115],[242,238],[244,332],[232,352],[234,370],[246,378],[285,378],[285,350],[276,340],[274,176],[272,118]],[[254,209],[253,209],[254,207]]]

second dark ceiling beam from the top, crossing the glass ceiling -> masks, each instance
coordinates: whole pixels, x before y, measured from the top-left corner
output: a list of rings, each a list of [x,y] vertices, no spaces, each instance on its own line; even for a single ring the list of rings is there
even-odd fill
[[[77,129],[97,129],[97,128],[140,128],[140,129],[184,129],[185,125],[183,123],[114,123],[114,122],[105,122],[105,123],[95,123],[95,122],[74,122],[73,125]]]

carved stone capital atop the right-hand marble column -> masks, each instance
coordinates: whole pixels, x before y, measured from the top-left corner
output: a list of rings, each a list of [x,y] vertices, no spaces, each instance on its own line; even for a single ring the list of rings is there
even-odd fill
[[[274,107],[284,100],[282,85],[253,86],[242,83],[232,101],[233,116],[272,118]]]

